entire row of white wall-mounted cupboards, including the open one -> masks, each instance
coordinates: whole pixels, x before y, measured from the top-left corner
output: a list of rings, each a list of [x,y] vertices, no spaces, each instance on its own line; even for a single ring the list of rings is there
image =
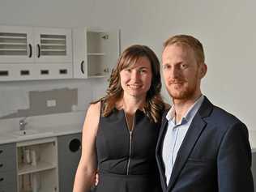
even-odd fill
[[[0,81],[109,76],[120,32],[0,25]]]

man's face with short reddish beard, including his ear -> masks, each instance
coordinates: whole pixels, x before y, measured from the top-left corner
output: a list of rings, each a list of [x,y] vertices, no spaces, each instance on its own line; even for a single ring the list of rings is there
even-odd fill
[[[174,100],[190,100],[199,95],[206,65],[198,65],[194,50],[185,45],[168,45],[162,55],[164,82]]]

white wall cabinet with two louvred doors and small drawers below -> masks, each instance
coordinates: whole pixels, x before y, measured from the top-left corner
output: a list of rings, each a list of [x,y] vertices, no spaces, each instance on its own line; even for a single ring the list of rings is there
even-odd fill
[[[0,26],[0,81],[72,75],[71,29]]]

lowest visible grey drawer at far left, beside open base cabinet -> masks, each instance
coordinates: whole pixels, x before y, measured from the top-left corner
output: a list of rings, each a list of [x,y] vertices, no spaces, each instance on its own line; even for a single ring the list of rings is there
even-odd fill
[[[17,183],[17,175],[15,171],[13,172],[1,172],[0,173],[0,189],[7,189],[6,187],[16,186]],[[0,190],[0,192],[2,192]],[[13,190],[10,190],[13,191]],[[9,190],[8,190],[9,192]]]

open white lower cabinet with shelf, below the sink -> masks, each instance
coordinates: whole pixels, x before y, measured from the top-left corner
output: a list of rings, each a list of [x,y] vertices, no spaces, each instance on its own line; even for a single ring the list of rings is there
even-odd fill
[[[58,192],[56,138],[17,143],[18,191]]]

